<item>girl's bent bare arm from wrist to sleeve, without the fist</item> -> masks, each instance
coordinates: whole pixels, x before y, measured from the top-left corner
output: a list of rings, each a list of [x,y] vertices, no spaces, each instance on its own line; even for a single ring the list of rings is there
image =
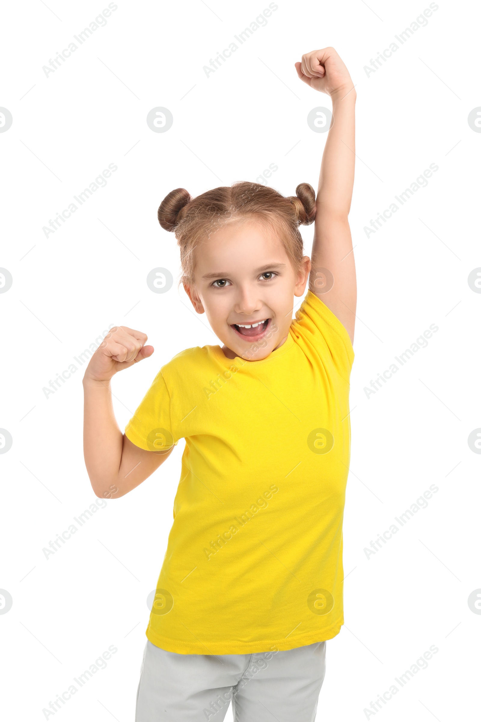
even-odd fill
[[[110,382],[84,378],[84,458],[94,494],[116,499],[145,481],[172,449],[144,451],[120,431]]]

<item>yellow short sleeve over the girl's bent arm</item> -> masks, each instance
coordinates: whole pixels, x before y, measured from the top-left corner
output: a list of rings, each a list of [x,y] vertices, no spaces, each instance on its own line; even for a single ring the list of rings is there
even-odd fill
[[[145,451],[162,453],[177,443],[172,435],[170,396],[162,371],[125,427],[125,436]]]

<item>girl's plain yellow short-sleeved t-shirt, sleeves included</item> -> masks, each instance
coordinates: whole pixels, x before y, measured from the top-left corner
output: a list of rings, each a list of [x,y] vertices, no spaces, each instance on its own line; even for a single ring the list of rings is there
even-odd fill
[[[161,452],[185,438],[185,451],[151,643],[247,654],[339,633],[353,359],[309,291],[264,360],[196,347],[156,375],[125,435]]]

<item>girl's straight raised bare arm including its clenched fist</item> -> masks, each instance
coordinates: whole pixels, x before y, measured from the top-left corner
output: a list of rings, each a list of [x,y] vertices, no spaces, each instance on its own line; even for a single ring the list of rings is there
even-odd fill
[[[309,288],[335,313],[353,342],[356,266],[348,214],[356,159],[356,90],[334,48],[306,53],[296,63],[296,71],[301,80],[332,100],[332,123],[319,173]]]

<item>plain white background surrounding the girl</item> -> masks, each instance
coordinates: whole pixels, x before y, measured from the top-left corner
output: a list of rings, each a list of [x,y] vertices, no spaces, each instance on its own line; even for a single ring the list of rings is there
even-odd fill
[[[467,599],[481,587],[481,456],[467,437],[481,427],[481,295],[467,277],[481,266],[481,134],[467,116],[481,105],[480,8],[440,1],[428,25],[368,76],[363,66],[428,2],[280,0],[268,24],[206,77],[203,66],[267,0],[117,5],[48,77],[43,66],[107,2],[11,3],[2,19],[0,105],[13,116],[0,134],[0,266],[13,277],[0,295],[0,427],[13,438],[0,456],[8,549],[0,588],[13,599],[0,614],[2,716],[45,719],[50,700],[115,645],[107,668],[49,719],[133,720],[146,598],[172,523],[182,444],[46,559],[43,547],[95,501],[82,453],[85,365],[74,356],[110,324],[149,334],[154,355],[112,383],[123,429],[159,367],[186,347],[218,343],[177,291],[178,249],[157,223],[157,206],[173,188],[197,195],[255,181],[271,163],[278,170],[269,182],[284,195],[303,181],[317,187],[326,134],[309,129],[306,116],[330,100],[299,81],[294,62],[332,45],[358,94],[350,225],[359,300],[345,626],[327,643],[317,718],[366,719],[371,700],[431,645],[438,653],[428,668],[369,718],[472,718],[481,616]],[[174,117],[166,133],[146,124],[156,106]],[[49,219],[110,163],[118,170],[107,186],[45,238]],[[363,227],[431,163],[438,171],[428,186],[366,238]],[[312,227],[302,232],[309,253]],[[175,279],[164,294],[146,285],[158,266]],[[428,346],[367,398],[363,388],[431,324],[438,331]],[[72,363],[76,373],[46,398],[43,388]],[[431,484],[438,492],[428,507],[368,559],[363,549]]]

